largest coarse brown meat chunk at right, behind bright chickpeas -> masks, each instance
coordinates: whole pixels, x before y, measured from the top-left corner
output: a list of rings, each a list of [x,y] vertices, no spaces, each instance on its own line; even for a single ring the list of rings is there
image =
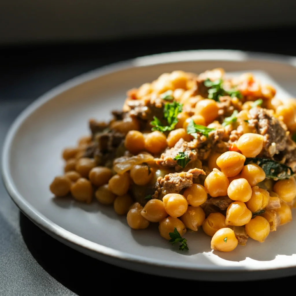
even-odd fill
[[[287,148],[289,133],[284,123],[275,118],[269,110],[263,108],[252,108],[250,115],[252,118],[250,126],[264,136],[263,156],[272,158]]]

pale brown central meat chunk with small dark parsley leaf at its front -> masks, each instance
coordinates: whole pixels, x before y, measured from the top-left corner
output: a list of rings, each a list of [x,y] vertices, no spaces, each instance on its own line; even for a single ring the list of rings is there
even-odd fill
[[[179,152],[187,153],[188,157],[191,161],[197,159],[197,145],[198,141],[194,139],[191,142],[186,142],[184,139],[180,139],[174,147],[167,149],[163,154],[160,156],[159,159],[156,160],[156,164],[163,165],[163,166],[170,166],[176,167],[176,170],[180,170],[180,166],[177,164],[177,160],[174,158],[179,154]]]

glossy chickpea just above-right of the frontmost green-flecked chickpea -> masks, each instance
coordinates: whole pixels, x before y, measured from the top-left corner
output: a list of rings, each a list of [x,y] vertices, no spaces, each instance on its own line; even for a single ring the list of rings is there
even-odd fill
[[[243,226],[250,222],[252,212],[240,201],[233,202],[226,210],[226,225]]]

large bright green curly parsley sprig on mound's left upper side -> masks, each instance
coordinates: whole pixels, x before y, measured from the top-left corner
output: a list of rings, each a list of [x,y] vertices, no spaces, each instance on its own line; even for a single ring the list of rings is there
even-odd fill
[[[160,119],[156,116],[153,117],[154,120],[151,121],[151,125],[153,128],[152,131],[161,131],[162,133],[165,131],[171,131],[175,128],[176,124],[178,123],[177,116],[180,112],[182,112],[183,105],[174,101],[172,103],[166,103],[165,107],[163,108],[163,119],[166,119],[168,122],[167,126],[163,126]]]

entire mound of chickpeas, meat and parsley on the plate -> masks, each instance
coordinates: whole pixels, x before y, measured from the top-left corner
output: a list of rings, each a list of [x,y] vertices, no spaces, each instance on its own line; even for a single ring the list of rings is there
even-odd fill
[[[180,250],[200,227],[214,250],[264,242],[296,196],[296,101],[275,94],[250,73],[164,73],[128,91],[109,123],[89,120],[50,190],[113,205],[132,229],[159,223]]]

